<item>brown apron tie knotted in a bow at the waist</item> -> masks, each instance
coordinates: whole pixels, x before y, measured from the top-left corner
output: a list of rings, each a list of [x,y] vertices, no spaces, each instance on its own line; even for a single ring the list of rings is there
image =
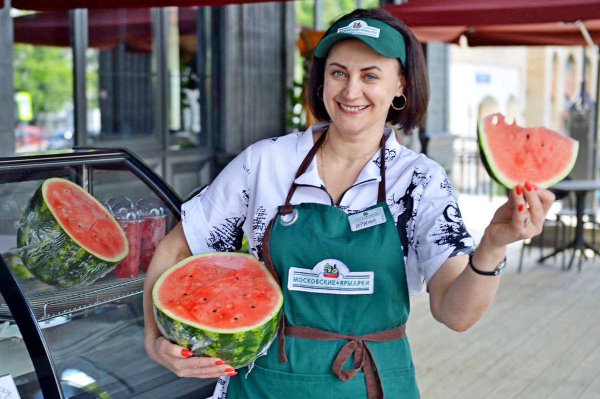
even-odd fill
[[[353,379],[362,368],[365,374],[365,383],[367,384],[368,399],[383,399],[383,385],[379,369],[375,363],[373,352],[371,352],[371,349],[367,345],[367,341],[384,342],[404,338],[406,337],[406,325],[367,335],[344,335],[312,327],[298,326],[286,326],[284,333],[289,337],[306,338],[309,340],[348,340],[335,357],[331,365],[331,371],[340,380],[348,381]],[[344,364],[352,354],[354,354],[354,368],[342,370],[342,367],[344,367]]]

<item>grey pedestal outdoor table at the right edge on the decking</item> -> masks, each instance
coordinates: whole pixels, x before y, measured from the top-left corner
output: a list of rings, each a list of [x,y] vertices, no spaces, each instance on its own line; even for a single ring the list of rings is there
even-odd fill
[[[586,194],[589,191],[600,190],[600,180],[597,179],[573,179],[573,180],[563,180],[558,182],[557,184],[551,187],[553,190],[560,191],[573,191],[575,193],[575,212],[577,215],[577,226],[575,227],[575,239],[569,244],[557,248],[553,253],[541,257],[538,262],[544,262],[544,260],[549,257],[553,257],[557,253],[568,250],[569,248],[573,248],[573,256],[571,256],[571,260],[569,261],[569,266],[567,269],[571,269],[573,265],[573,260],[575,259],[575,254],[577,250],[580,250],[579,263],[577,265],[577,270],[581,271],[581,258],[584,256],[584,250],[589,248],[594,251],[596,254],[600,255],[600,250],[596,248],[594,245],[586,242],[583,238],[583,209],[586,203]]]

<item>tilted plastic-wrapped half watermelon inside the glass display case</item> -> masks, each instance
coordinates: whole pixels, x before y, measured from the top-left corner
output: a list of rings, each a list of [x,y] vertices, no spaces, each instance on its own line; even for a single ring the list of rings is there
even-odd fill
[[[79,185],[60,178],[44,181],[29,201],[17,245],[35,277],[68,287],[94,283],[129,252],[110,212]]]

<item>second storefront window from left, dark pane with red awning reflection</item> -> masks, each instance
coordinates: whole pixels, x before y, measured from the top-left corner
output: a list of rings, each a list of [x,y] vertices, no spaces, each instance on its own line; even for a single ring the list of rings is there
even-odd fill
[[[91,143],[155,133],[151,9],[88,10],[87,123]]]

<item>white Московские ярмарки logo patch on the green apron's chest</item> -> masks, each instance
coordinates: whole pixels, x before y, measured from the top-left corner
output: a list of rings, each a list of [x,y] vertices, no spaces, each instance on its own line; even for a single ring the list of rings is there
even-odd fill
[[[351,272],[341,260],[325,259],[312,269],[290,268],[287,289],[337,295],[372,294],[373,278],[373,272]]]

